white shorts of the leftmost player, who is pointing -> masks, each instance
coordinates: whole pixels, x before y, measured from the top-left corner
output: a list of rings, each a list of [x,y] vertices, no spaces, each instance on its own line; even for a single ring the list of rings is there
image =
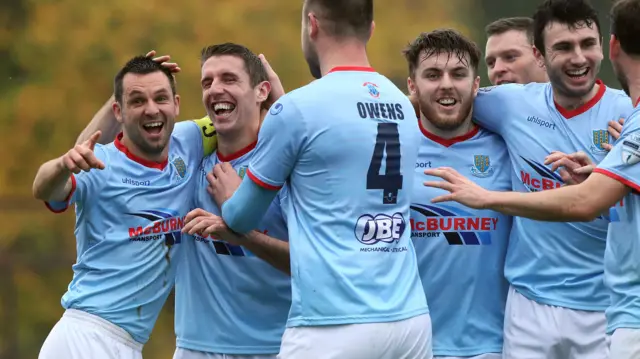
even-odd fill
[[[95,315],[67,309],[42,344],[38,359],[142,359],[142,344]]]

